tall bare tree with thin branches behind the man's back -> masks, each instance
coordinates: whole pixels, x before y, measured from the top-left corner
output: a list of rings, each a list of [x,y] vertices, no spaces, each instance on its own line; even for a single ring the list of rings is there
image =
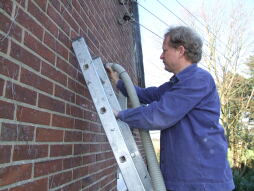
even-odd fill
[[[243,1],[231,5],[223,5],[222,1],[208,5],[204,1],[195,12],[199,15],[192,17],[191,23],[204,37],[203,63],[215,78],[221,98],[221,122],[233,154],[233,166],[240,167],[242,155],[250,144],[243,119],[251,111],[253,76],[243,77],[241,69],[253,44],[254,38],[249,35],[253,14]]]

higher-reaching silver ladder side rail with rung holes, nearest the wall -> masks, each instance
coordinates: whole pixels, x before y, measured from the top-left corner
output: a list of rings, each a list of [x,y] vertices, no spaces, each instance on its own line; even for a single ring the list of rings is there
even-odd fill
[[[137,171],[132,158],[133,155],[129,152],[121,129],[118,126],[119,123],[120,126],[126,126],[127,124],[116,121],[84,39],[80,38],[74,41],[73,48],[128,189],[130,191],[152,190],[150,177],[143,178]],[[147,181],[143,182],[143,180]]]

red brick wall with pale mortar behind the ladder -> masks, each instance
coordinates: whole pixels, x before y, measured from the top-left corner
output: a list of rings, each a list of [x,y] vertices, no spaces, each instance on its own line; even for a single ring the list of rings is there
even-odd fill
[[[71,39],[83,36],[92,56],[136,79],[124,13],[118,0],[0,1],[0,190],[116,190]]]

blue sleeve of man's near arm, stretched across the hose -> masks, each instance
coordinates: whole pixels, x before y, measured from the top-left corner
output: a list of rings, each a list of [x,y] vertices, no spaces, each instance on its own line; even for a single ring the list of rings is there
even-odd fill
[[[119,112],[118,118],[133,128],[162,130],[175,125],[211,91],[209,80],[179,83],[148,106]]]

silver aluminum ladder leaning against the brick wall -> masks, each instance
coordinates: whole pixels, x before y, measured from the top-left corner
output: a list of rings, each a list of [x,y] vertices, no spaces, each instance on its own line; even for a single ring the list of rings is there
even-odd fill
[[[74,40],[72,47],[128,191],[153,191],[129,126],[114,116],[113,110],[120,111],[121,107],[102,60],[92,59],[84,38]]]

